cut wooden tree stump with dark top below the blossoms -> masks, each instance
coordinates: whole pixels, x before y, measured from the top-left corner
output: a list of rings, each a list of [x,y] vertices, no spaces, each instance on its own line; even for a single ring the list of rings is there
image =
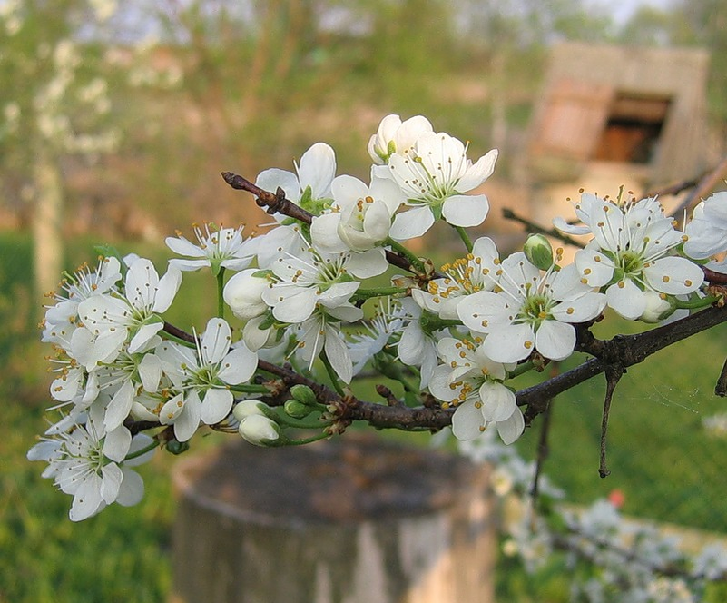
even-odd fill
[[[347,434],[178,463],[172,603],[488,603],[488,469]]]

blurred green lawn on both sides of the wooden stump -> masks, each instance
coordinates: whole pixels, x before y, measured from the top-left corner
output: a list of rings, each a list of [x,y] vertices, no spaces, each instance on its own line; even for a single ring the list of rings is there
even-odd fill
[[[74,245],[69,266],[93,258],[90,242]],[[162,268],[164,252],[148,252]],[[27,284],[30,244],[25,237],[3,235],[0,257],[0,379],[5,386],[0,400],[5,409],[0,426],[0,603],[107,603],[130,600],[129,593],[134,601],[163,600],[171,580],[174,503],[168,471],[174,459],[158,454],[142,467],[147,494],[138,507],[113,506],[80,524],[67,519],[70,499],[41,479],[42,464],[25,460],[35,434],[43,430],[43,409],[49,405],[43,356],[50,351],[35,341],[39,308]],[[186,277],[182,285],[188,292],[198,286]],[[203,324],[204,309],[213,308],[215,301],[203,294],[196,299],[199,307],[192,312],[172,308],[171,320],[186,328]],[[712,395],[725,335],[724,327],[702,333],[629,369],[611,411],[612,475],[607,479],[597,473],[603,380],[555,401],[546,471],[572,500],[585,503],[620,489],[625,513],[727,532],[722,471],[727,439],[702,429],[702,419],[727,410],[725,401]],[[536,422],[518,444],[521,450],[535,450],[538,432]],[[502,568],[509,575],[509,565]],[[545,590],[553,582],[553,598],[542,593],[532,600],[562,600],[562,578],[539,579]]]

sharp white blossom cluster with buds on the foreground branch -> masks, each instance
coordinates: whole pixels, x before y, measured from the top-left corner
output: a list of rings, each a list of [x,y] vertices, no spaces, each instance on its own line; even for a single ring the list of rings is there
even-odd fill
[[[723,193],[683,230],[654,198],[584,193],[581,223],[555,222],[590,237],[566,263],[542,235],[509,254],[489,237],[470,239],[466,229],[489,210],[479,187],[496,151],[473,162],[466,143],[426,118],[388,115],[368,153],[368,182],[337,174],[326,143],[291,171],[260,173],[252,189],[297,209],[270,206],[275,221],[256,236],[196,226],[193,240],[166,240],[180,257],[161,276],[148,259],[106,250],[62,283],[43,329],[61,417],[29,457],[47,461],[44,475],[74,496],[71,519],[136,502],[142,481],[129,468],[157,446],[184,450],[205,426],[260,445],[300,443],[293,429],[318,429],[311,440],[345,429],[337,422],[345,404],[308,386],[281,395],[272,366],[290,365],[299,385],[325,374],[339,400],[376,370],[403,386],[409,406],[435,400],[458,439],[495,430],[511,444],[526,422],[511,380],[568,358],[582,325],[608,308],[655,322],[713,301],[701,264],[727,251]],[[438,271],[407,247],[436,222],[464,247]],[[200,332],[184,331],[168,311],[183,273],[198,270],[216,283],[217,313]]]

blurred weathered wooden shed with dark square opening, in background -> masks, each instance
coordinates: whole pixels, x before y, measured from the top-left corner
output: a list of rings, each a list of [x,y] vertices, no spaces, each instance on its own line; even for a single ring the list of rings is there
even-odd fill
[[[577,189],[621,177],[639,191],[699,174],[708,66],[693,48],[555,45],[528,133],[529,178]]]

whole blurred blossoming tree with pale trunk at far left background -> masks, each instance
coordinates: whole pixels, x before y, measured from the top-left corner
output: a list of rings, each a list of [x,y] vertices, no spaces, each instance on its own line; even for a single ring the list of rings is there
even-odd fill
[[[90,38],[113,5],[7,2],[0,21],[0,122],[5,197],[32,224],[36,292],[51,291],[63,263],[64,163],[115,149],[103,45]],[[12,203],[11,201],[11,203]]]

